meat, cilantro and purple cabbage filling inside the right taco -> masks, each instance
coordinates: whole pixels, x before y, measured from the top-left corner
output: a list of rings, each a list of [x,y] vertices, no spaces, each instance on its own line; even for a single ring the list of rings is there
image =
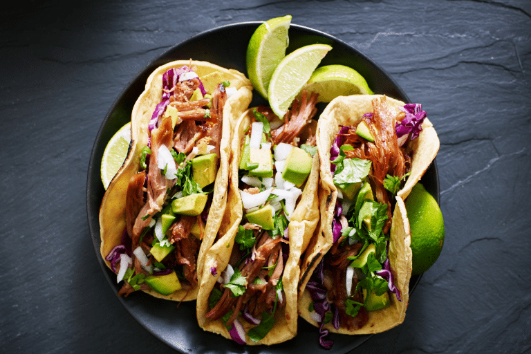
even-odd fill
[[[325,324],[358,330],[369,322],[369,312],[391,306],[390,297],[401,301],[390,268],[389,232],[395,195],[411,169],[407,142],[418,136],[426,114],[420,105],[407,104],[398,115],[384,99],[372,105],[359,124],[340,127],[330,148],[337,188],[333,245],[306,284],[308,313],[325,348],[332,345]],[[411,129],[404,129],[408,123]]]

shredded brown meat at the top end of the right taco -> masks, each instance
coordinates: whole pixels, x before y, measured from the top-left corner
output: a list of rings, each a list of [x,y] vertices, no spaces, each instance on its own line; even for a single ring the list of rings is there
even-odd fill
[[[384,179],[387,174],[391,176],[404,176],[411,159],[404,153],[404,149],[398,146],[395,133],[397,117],[387,106],[385,97],[373,100],[373,115],[363,118],[371,130],[374,142],[369,142],[355,133],[355,128],[346,133],[346,144],[354,147],[347,150],[348,158],[361,158],[371,160],[369,180],[375,191],[376,200],[387,204],[387,221],[384,225],[384,234],[391,228],[391,201],[389,194],[384,188]]]

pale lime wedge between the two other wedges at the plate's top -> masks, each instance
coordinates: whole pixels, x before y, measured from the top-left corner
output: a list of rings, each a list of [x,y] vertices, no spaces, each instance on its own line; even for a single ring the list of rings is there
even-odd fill
[[[274,69],[268,88],[269,104],[279,118],[290,108],[297,93],[308,82],[317,65],[332,49],[328,44],[310,44],[286,55]]]

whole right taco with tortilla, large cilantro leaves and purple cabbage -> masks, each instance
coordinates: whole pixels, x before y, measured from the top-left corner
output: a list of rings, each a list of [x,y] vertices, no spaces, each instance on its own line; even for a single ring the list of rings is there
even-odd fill
[[[317,125],[321,226],[299,282],[301,317],[328,332],[380,333],[404,321],[411,248],[404,198],[439,148],[420,104],[337,97]],[[407,180],[404,184],[404,180]]]

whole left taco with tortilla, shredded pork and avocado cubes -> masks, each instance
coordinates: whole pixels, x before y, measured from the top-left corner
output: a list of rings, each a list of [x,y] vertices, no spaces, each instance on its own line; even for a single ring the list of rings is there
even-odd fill
[[[251,90],[243,74],[208,62],[170,62],[149,75],[129,153],[100,207],[100,251],[123,281],[119,295],[196,299],[226,205],[234,122]]]

